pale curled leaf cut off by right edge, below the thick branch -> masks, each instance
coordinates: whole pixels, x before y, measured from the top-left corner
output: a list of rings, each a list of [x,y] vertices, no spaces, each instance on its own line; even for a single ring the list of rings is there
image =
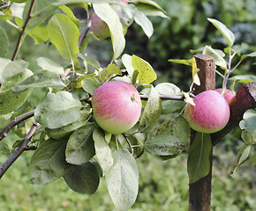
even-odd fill
[[[244,120],[241,120],[239,127],[242,129],[242,139],[247,145],[256,143],[256,110],[249,109],[244,113]]]

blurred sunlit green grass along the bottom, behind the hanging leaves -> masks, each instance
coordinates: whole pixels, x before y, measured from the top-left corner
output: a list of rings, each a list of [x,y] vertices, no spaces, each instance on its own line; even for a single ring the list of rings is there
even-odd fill
[[[26,152],[0,180],[0,210],[16,211],[112,211],[115,210],[105,181],[94,195],[75,193],[59,178],[46,185],[30,184],[28,164],[33,152]],[[186,154],[169,161],[144,154],[139,158],[139,196],[131,211],[188,210]],[[252,211],[256,209],[253,169],[239,167],[232,177],[235,155],[220,145],[215,149],[212,210]],[[1,164],[6,156],[0,156]],[[254,172],[255,174],[255,172]]]

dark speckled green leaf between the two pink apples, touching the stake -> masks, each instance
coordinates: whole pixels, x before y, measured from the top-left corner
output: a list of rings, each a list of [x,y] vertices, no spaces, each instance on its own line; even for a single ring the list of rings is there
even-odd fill
[[[190,140],[190,127],[184,117],[178,115],[170,120],[163,121],[156,135],[173,135],[183,144],[186,144]]]

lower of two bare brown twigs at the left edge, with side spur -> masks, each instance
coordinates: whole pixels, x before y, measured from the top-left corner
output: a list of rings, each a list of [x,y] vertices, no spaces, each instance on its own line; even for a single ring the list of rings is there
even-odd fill
[[[27,149],[34,149],[27,146],[27,143],[30,142],[32,136],[34,135],[35,131],[39,127],[39,123],[34,122],[33,126],[30,128],[29,132],[27,133],[24,141],[21,143],[19,148],[11,154],[11,156],[7,159],[7,161],[1,166],[0,168],[0,178],[3,177],[4,173],[9,169],[11,164],[13,164],[17,158]]]

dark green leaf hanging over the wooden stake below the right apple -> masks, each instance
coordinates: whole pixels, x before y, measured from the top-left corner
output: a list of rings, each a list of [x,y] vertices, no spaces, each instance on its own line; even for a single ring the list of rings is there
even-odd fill
[[[210,171],[211,136],[197,133],[189,149],[187,171],[189,183],[195,183]]]

